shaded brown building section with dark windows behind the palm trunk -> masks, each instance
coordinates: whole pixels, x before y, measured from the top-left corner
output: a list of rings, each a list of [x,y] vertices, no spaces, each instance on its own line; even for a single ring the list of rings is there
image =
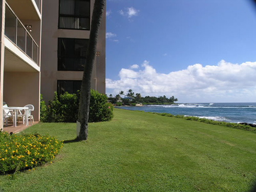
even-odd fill
[[[44,0],[42,6],[41,94],[76,93],[81,87],[94,0]],[[92,89],[105,93],[105,9],[98,34]]]

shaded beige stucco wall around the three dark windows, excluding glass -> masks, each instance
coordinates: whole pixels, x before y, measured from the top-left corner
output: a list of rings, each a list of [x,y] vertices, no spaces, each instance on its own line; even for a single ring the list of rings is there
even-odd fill
[[[94,0],[91,1],[91,16]],[[53,99],[57,91],[57,80],[81,80],[81,71],[57,71],[58,37],[89,39],[90,31],[58,29],[58,1],[44,0],[42,6],[42,42],[41,42],[41,94],[44,100]],[[105,93],[105,9],[98,37],[97,51],[100,56],[95,58],[92,89]],[[96,80],[97,79],[97,80]]]

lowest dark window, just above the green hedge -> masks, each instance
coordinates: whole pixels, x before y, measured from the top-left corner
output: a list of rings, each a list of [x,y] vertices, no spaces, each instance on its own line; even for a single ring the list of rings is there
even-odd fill
[[[77,93],[77,90],[81,89],[81,84],[81,80],[57,80],[57,94]]]

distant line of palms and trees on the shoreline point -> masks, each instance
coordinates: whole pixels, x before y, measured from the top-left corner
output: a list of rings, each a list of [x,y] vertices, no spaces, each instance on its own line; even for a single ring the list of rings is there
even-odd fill
[[[124,96],[124,97],[122,97]],[[171,96],[167,98],[164,96],[159,97],[151,97],[145,96],[142,97],[140,93],[134,93],[133,90],[128,90],[127,94],[125,95],[123,91],[120,91],[119,94],[113,96],[112,94],[108,97],[109,101],[113,104],[117,105],[135,105],[136,103],[142,104],[173,104],[178,101],[177,98]]]

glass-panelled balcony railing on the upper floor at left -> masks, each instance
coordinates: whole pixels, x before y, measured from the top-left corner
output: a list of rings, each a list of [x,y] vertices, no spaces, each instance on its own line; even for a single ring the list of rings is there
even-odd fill
[[[35,40],[7,4],[5,35],[38,65],[38,46]]]

